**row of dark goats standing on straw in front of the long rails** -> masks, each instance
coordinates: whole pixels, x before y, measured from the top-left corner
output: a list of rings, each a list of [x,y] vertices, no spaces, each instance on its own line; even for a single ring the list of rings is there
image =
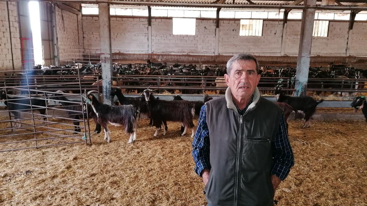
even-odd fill
[[[158,97],[154,96],[155,92],[149,88],[145,89],[141,96],[132,98],[124,96],[120,88],[113,88],[111,95],[116,95],[121,105],[110,106],[99,102],[99,100],[92,95],[92,92],[93,91],[88,92],[86,97],[83,96],[86,105],[83,105],[81,101],[67,99],[63,96],[63,91],[57,91],[48,98],[49,100],[59,100],[59,103],[63,106],[69,118],[92,118],[96,123],[95,133],[100,133],[101,127],[103,127],[105,135],[104,140],[107,140],[108,143],[111,139],[110,130],[108,128],[109,124],[123,127],[125,132],[130,135],[128,143],[137,140],[139,119],[143,117],[150,118],[150,124],[155,126],[156,131],[153,136],[157,136],[161,128],[163,128],[163,135],[166,135],[168,130],[167,121],[173,121],[181,123],[182,136],[186,134],[187,129],[191,129],[191,137],[193,137],[195,134],[193,118],[195,115],[199,115],[200,108],[205,102],[213,99],[205,95],[203,101],[187,101],[183,100],[181,96],[176,95],[171,101],[160,100]],[[276,104],[281,107],[284,112],[287,131],[287,119],[292,111],[302,111],[305,114],[305,123],[302,128],[309,128],[311,126],[312,115],[316,111],[316,106],[323,102],[322,99],[317,102],[310,96],[294,97],[284,95],[280,85],[277,85],[275,88],[275,94],[277,96]],[[46,102],[44,100],[10,97],[7,96],[5,89],[1,91],[0,99],[7,99],[5,104],[8,110],[14,115],[14,122],[18,124],[18,127],[21,126],[19,110],[29,111],[32,110],[33,106],[33,110],[38,110],[40,114],[45,115],[46,108],[43,107],[46,107]],[[364,96],[355,98],[351,106],[355,109],[360,107],[367,121],[367,103]],[[43,118],[44,121],[46,121],[46,117],[43,116]],[[74,125],[75,133],[81,132],[79,121],[75,121]]]

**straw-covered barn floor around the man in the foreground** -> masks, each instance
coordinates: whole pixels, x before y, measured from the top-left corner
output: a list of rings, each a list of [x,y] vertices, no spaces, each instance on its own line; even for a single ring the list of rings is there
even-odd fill
[[[276,191],[278,205],[366,205],[366,122],[289,124],[295,166]],[[166,136],[153,137],[142,119],[132,144],[111,126],[109,144],[102,133],[89,146],[1,152],[0,205],[206,205],[190,132],[180,136],[179,126],[169,122]]]

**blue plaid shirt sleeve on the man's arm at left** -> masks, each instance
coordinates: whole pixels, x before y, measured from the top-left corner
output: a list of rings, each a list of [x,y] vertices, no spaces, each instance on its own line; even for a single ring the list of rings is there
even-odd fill
[[[204,169],[210,169],[210,141],[209,129],[206,122],[206,105],[201,107],[199,115],[199,123],[197,125],[196,134],[192,142],[192,157],[195,162],[195,172],[201,176]]]

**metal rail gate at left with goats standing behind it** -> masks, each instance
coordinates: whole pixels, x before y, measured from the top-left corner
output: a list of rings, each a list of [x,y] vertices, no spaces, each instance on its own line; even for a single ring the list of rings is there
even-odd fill
[[[20,70],[16,72],[20,72]],[[4,77],[7,78],[9,76],[0,76],[0,78]],[[1,103],[7,102],[8,105],[26,105],[30,106],[30,110],[14,110],[19,112],[19,114],[21,115],[21,118],[19,119],[20,121],[17,120],[17,122],[21,123],[20,127],[14,127],[15,120],[11,111],[3,111],[4,113],[8,113],[8,118],[0,121],[2,125],[0,128],[0,152],[21,150],[27,148],[48,147],[63,144],[91,143],[88,111],[86,111],[86,113],[83,113],[82,111],[68,110],[63,106],[51,105],[52,102],[75,103],[72,102],[72,100],[80,100],[80,103],[76,103],[76,105],[80,105],[80,107],[83,108],[85,101],[82,98],[81,93],[86,90],[84,89],[83,91],[83,89],[81,88],[81,78],[79,75],[77,75],[78,78],[76,82],[65,83],[65,81],[42,82],[40,81],[40,78],[45,77],[28,76],[28,74],[25,73],[25,76],[22,77],[25,79],[23,79],[22,82],[27,82],[27,85],[15,85],[14,81],[17,80],[16,78],[14,78],[14,76],[12,77],[13,78],[7,79],[11,80],[8,81],[8,84],[6,81],[3,81],[4,86],[0,87],[0,89],[5,90],[7,97],[5,100],[1,100]],[[30,81],[32,81],[32,84],[30,84]],[[37,82],[41,83],[37,84]],[[62,87],[67,87],[70,85],[76,85],[77,87],[79,87],[79,91],[77,94],[68,93],[65,95],[65,93],[54,92],[58,90],[56,89],[57,87],[62,89]],[[54,88],[50,89],[48,87]],[[9,93],[12,93],[13,95],[10,95]],[[32,95],[32,93],[37,93],[38,95]],[[53,94],[64,95],[70,101],[54,100],[51,98]],[[23,100],[29,100],[29,103],[11,103],[8,97],[17,97]],[[44,100],[46,102],[46,107],[30,104],[31,99]],[[45,115],[34,112],[38,108],[46,109]],[[80,113],[82,114],[83,118],[70,118],[65,113],[66,111]],[[46,120],[44,120],[43,118],[46,118]],[[74,122],[79,122],[79,128],[81,129],[80,132],[74,131]]]

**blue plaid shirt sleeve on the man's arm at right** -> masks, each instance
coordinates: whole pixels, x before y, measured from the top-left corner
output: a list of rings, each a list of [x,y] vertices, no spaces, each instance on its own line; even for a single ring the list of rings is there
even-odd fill
[[[280,119],[278,133],[273,144],[273,167],[272,174],[284,180],[288,176],[291,167],[294,165],[294,157],[291,144],[288,139],[288,131],[284,114]]]

